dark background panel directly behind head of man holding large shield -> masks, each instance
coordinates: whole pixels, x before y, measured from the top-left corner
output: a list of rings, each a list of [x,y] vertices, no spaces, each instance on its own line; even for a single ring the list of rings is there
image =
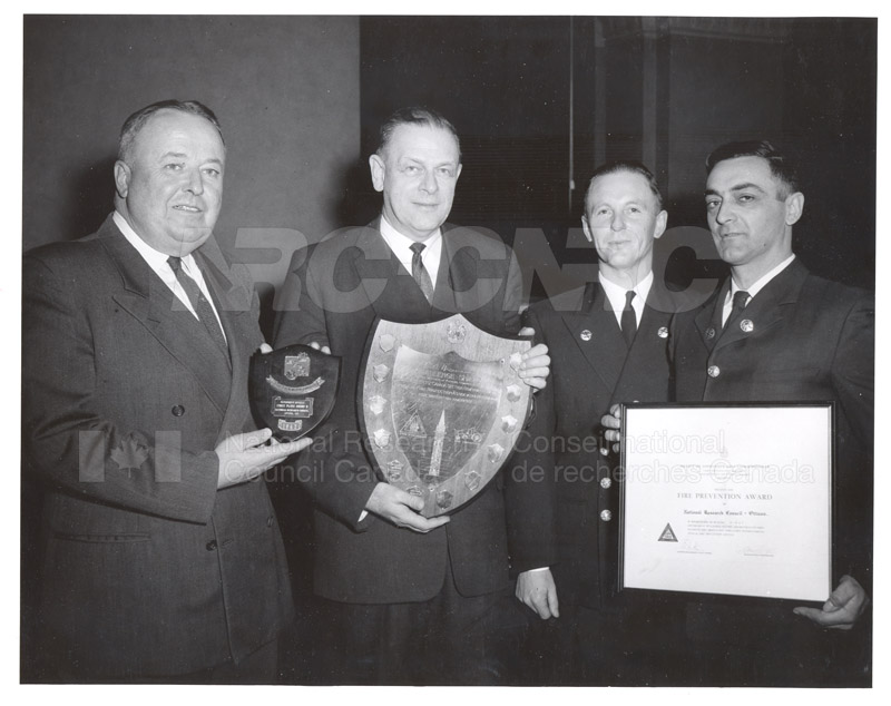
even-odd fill
[[[394,109],[454,122],[463,171],[450,220],[511,243],[568,210],[569,18],[362,18],[363,153]],[[373,215],[373,212],[372,212]]]

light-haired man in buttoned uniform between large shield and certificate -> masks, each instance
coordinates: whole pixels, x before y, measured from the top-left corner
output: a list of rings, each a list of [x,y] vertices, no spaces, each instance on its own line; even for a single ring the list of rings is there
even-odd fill
[[[529,325],[547,344],[552,379],[515,457],[513,472],[556,480],[557,562],[525,575],[541,618],[547,682],[653,684],[663,671],[669,614],[617,595],[618,459],[601,455],[600,418],[613,403],[668,400],[668,324],[685,305],[654,277],[653,246],[667,214],[653,174],[634,161],[599,167],[581,225],[597,248],[599,281],[532,305]]]

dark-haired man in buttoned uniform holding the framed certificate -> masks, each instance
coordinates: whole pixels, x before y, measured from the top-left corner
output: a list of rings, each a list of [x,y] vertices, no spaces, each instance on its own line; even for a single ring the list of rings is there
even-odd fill
[[[820,609],[689,604],[695,658],[684,680],[869,684],[869,619],[861,616],[872,547],[873,300],[810,274],[795,258],[792,227],[804,196],[789,159],[770,143],[724,145],[706,167],[708,226],[731,277],[701,308],[673,321],[674,396],[838,403],[833,551],[840,578]],[[607,433],[615,441],[617,419],[604,423],[615,428]]]

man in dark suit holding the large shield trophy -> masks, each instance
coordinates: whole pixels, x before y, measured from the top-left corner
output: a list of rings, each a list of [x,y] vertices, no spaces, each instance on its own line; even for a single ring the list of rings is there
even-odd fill
[[[356,399],[375,316],[424,323],[460,312],[484,330],[515,334],[519,272],[500,239],[444,223],[461,155],[442,116],[394,114],[370,166],[383,193],[381,217],[295,254],[275,333],[276,347],[314,344],[343,359],[326,443],[301,457],[297,473],[315,504],[314,586],[326,599],[323,678],[503,680],[510,676],[500,647],[522,618],[510,599],[510,571],[548,563],[536,535],[549,521],[547,503],[536,500],[544,489],[499,474],[451,517],[427,519],[420,498],[378,480],[362,448]],[[527,353],[520,373],[538,386],[547,374],[539,369],[544,352]],[[515,520],[510,535],[506,512]]]

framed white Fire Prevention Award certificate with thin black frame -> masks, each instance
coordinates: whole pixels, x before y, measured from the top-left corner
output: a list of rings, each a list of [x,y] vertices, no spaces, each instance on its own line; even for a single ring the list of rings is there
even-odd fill
[[[624,406],[621,588],[824,601],[833,418],[832,402]]]

